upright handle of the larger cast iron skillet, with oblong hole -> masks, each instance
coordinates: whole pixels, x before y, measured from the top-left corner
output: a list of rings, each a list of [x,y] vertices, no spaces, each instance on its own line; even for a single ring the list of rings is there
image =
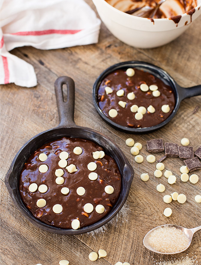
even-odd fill
[[[64,101],[62,86],[67,85],[67,101]],[[58,108],[58,127],[75,127],[74,107],[75,107],[75,83],[68,76],[61,76],[55,81],[55,95]]]

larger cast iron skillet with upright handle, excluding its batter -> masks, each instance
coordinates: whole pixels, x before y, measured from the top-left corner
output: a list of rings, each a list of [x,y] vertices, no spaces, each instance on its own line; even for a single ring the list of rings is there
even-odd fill
[[[63,99],[62,86],[67,85],[67,102]],[[86,233],[95,230],[107,222],[109,222],[122,208],[124,205],[131,182],[134,177],[134,170],[129,164],[127,158],[120,150],[120,148],[107,136],[93,129],[86,127],[77,126],[74,122],[74,101],[75,101],[75,85],[74,81],[70,77],[59,77],[55,82],[55,94],[58,107],[59,125],[56,128],[49,129],[43,133],[39,133],[30,139],[19,152],[16,154],[10,169],[8,170],[5,177],[5,184],[10,193],[13,202],[16,204],[18,210],[35,226],[46,230],[48,232],[62,234],[62,235],[76,235]],[[19,194],[19,174],[24,166],[24,163],[30,157],[30,155],[42,145],[59,139],[63,136],[67,137],[79,137],[91,140],[104,148],[104,151],[113,157],[119,167],[122,176],[122,189],[118,201],[112,208],[111,212],[105,216],[98,223],[90,225],[85,228],[77,230],[67,230],[49,226],[36,219],[24,206]]]

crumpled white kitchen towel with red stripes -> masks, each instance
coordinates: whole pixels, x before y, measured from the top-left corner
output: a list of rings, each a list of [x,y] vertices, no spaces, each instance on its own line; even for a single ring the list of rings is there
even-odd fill
[[[57,49],[98,42],[101,21],[84,0],[1,0],[1,84],[37,85],[21,46]]]

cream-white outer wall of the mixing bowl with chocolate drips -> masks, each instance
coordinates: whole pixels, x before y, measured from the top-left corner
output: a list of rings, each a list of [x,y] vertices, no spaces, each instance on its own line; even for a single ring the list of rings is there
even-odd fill
[[[185,13],[178,24],[169,18],[154,19],[126,14],[105,0],[92,0],[101,20],[110,32],[128,45],[138,48],[155,48],[179,37],[201,14],[201,0],[192,16]],[[192,20],[192,21],[191,21]]]

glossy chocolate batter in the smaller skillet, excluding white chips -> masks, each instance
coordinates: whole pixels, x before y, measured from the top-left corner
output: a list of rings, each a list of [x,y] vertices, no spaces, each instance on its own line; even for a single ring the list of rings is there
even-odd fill
[[[134,76],[129,77],[126,74],[126,69],[119,69],[104,78],[97,92],[99,108],[110,120],[125,127],[146,128],[155,126],[166,120],[173,112],[175,107],[175,95],[173,89],[150,73],[138,69],[134,69],[134,71]],[[148,86],[157,85],[158,91],[161,93],[160,96],[153,96],[153,91],[150,89],[143,92],[140,89],[141,84],[147,84]],[[109,86],[113,92],[107,95],[105,91],[106,86]],[[119,97],[116,95],[116,92],[119,89],[124,90],[123,96]],[[131,92],[134,92],[135,94],[133,100],[127,98],[128,93]],[[119,101],[126,102],[125,108],[118,104]],[[135,119],[135,114],[137,112],[131,112],[131,106],[134,104],[138,107],[143,106],[146,108],[146,113],[143,114],[141,120]],[[169,105],[170,107],[168,113],[164,113],[161,110],[161,107],[164,104]],[[147,111],[147,108],[150,105],[155,108],[154,113]],[[115,109],[118,112],[116,117],[112,118],[109,116],[108,113],[110,109]]]

